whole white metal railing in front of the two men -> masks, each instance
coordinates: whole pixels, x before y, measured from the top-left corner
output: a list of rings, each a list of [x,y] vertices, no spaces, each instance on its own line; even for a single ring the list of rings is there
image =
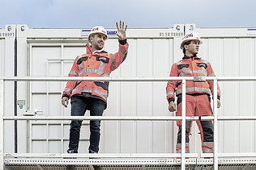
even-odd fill
[[[113,78],[113,77],[0,77],[0,168],[4,167],[4,146],[3,146],[3,123],[5,120],[112,120],[112,121],[175,121],[181,120],[181,154],[154,154],[154,156],[166,156],[166,157],[180,157],[181,158],[181,170],[186,169],[186,157],[194,157],[193,154],[186,153],[186,119],[190,120],[198,120],[199,117],[187,117],[186,116],[186,93],[182,93],[182,112],[181,116],[138,116],[138,117],[130,117],[130,116],[100,116],[100,117],[71,117],[71,116],[62,116],[62,117],[24,117],[24,116],[4,116],[4,81],[182,81],[182,92],[186,91],[186,81],[214,81],[214,104],[213,104],[213,112],[214,116],[202,116],[201,120],[213,120],[214,121],[214,154],[206,154],[209,157],[214,158],[214,169],[218,169],[218,121],[236,121],[236,120],[256,120],[256,116],[241,116],[241,117],[227,117],[227,116],[218,116],[217,112],[217,81],[256,81],[256,77],[159,77],[159,78],[150,78],[150,77],[140,77],[140,78]],[[19,154],[14,154],[15,157],[19,157]],[[29,154],[25,154],[29,156]],[[32,155],[32,154],[31,154]],[[203,154],[202,154],[203,155]],[[221,154],[220,155],[225,155]],[[249,154],[250,155],[250,154]],[[254,153],[253,155],[256,155]],[[7,156],[7,155],[6,155]],[[10,156],[10,155],[9,155]],[[59,155],[58,155],[59,156]],[[61,156],[66,156],[65,154],[61,154]],[[100,155],[96,155],[99,157]],[[112,155],[113,157],[120,157],[121,154]],[[147,157],[149,155],[142,154],[125,154],[123,157]],[[154,157],[153,156],[153,157]],[[91,156],[92,157],[92,156]],[[105,155],[102,155],[105,157]],[[150,156],[149,156],[150,157]]]

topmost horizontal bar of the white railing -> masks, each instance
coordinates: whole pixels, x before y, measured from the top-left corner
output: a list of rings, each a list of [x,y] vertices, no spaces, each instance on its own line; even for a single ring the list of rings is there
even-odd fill
[[[0,77],[4,81],[193,81],[194,77]],[[203,77],[203,80],[256,81],[256,77]]]

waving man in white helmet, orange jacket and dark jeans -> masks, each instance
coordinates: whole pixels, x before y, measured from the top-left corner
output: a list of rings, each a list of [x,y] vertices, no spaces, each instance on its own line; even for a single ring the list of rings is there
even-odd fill
[[[128,52],[125,23],[117,23],[119,50],[115,54],[104,51],[107,31],[102,26],[93,27],[88,35],[86,53],[75,58],[69,77],[109,77],[124,60]],[[90,110],[90,116],[102,116],[107,107],[109,81],[68,81],[62,93],[62,105],[67,107],[71,98],[71,116],[83,116]],[[82,121],[70,123],[68,153],[78,153]],[[89,153],[97,153],[100,143],[100,120],[90,121]]]

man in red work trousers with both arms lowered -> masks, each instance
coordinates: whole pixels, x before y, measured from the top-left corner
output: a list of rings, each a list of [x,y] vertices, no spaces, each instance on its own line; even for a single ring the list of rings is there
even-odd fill
[[[181,49],[184,56],[181,61],[173,64],[170,77],[215,77],[211,64],[198,57],[199,45],[203,44],[200,35],[196,32],[185,35],[181,40]],[[166,96],[169,102],[169,111],[177,110],[176,115],[181,116],[181,81],[169,81],[166,87]],[[175,104],[177,97],[177,106]],[[186,81],[186,116],[211,116],[211,95],[213,95],[213,81]],[[217,91],[218,108],[220,108],[220,87]],[[201,135],[202,150],[212,153],[214,150],[213,124],[211,121],[197,121]],[[177,147],[181,152],[181,121],[177,121]],[[186,121],[186,152],[190,152],[191,121]]]

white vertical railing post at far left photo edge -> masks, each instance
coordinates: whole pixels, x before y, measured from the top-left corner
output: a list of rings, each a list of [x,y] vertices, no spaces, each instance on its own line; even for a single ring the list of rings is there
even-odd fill
[[[0,79],[0,169],[4,169],[3,164],[3,95],[4,81]]]

